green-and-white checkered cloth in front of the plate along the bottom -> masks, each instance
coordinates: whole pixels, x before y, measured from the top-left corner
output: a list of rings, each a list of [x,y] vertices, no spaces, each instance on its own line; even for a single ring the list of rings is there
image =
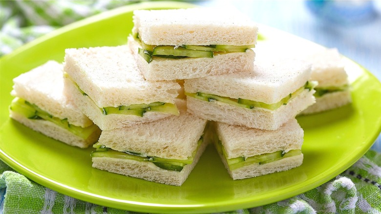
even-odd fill
[[[381,153],[369,150],[347,171],[303,194],[231,214],[380,214]],[[0,162],[0,209],[4,214],[130,214],[57,193]]]

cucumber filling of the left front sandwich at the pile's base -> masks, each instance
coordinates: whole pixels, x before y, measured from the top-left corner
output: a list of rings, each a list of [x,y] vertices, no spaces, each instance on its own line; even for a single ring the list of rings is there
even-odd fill
[[[157,167],[159,167],[163,170],[182,171],[183,168],[187,164],[191,164],[193,162],[193,158],[196,155],[196,152],[197,152],[198,148],[200,147],[201,143],[203,142],[203,139],[204,139],[203,136],[201,136],[197,142],[197,149],[194,150],[192,153],[192,156],[188,157],[188,159],[186,159],[186,160],[176,160],[176,159],[168,159],[168,158],[161,158],[161,157],[152,157],[152,156],[147,156],[146,154],[142,154],[142,153],[136,152],[136,151],[112,150],[110,148],[107,148],[105,145],[102,145],[99,142],[93,145],[93,147],[96,148],[96,150],[91,153],[91,156],[92,157],[110,157],[110,158],[150,162],[150,163],[153,163],[154,165],[156,165]]]

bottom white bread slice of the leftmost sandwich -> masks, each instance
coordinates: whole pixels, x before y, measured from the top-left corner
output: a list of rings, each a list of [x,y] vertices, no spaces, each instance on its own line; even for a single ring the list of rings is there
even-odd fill
[[[28,119],[12,110],[10,110],[9,115],[11,118],[20,122],[26,127],[29,127],[35,131],[38,131],[48,137],[51,137],[53,139],[66,143],[70,146],[87,148],[88,146],[95,143],[98,140],[99,135],[101,134],[101,130],[98,129],[96,132],[92,133],[87,139],[83,139],[71,133],[67,129],[61,128],[50,121]]]

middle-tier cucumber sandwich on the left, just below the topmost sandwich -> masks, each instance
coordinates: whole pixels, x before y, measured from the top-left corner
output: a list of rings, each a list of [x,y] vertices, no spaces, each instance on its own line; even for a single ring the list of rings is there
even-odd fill
[[[65,86],[102,130],[178,115],[179,84],[144,79],[127,45],[65,50]]]

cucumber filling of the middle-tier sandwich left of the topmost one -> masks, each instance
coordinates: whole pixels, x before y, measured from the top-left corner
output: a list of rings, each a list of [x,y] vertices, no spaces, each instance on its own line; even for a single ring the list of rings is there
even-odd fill
[[[68,76],[66,72],[63,73],[63,76],[65,78],[70,79],[70,77]],[[71,80],[71,82],[77,87],[77,89],[82,93],[82,95],[88,97],[88,95],[77,85],[77,83],[75,83],[73,80]],[[95,102],[90,97],[88,98],[94,103],[94,105],[96,105]],[[135,115],[138,117],[143,117],[144,113],[146,113],[147,111],[155,111],[155,112],[179,115],[179,110],[177,109],[175,104],[163,103],[163,102],[154,102],[150,104],[132,104],[129,106],[119,106],[119,107],[100,107],[99,109],[104,115],[125,114],[125,115]]]

